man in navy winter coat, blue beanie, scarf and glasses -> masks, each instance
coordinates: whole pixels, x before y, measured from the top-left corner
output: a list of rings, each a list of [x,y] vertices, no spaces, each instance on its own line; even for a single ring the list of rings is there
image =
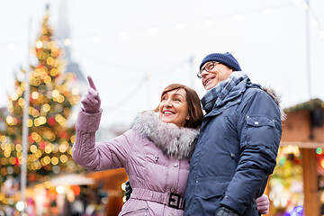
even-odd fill
[[[190,161],[184,215],[258,215],[255,199],[273,173],[281,113],[229,53],[202,59],[206,115]]]

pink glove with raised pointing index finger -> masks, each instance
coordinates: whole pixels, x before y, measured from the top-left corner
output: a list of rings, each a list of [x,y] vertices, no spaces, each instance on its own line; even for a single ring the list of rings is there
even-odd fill
[[[100,111],[101,99],[91,76],[87,76],[90,87],[81,99],[83,111],[95,113]]]

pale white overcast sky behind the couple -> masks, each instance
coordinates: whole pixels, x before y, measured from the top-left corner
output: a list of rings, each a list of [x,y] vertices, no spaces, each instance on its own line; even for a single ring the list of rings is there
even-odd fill
[[[46,4],[54,31],[59,17],[67,17],[72,60],[94,78],[103,125],[129,123],[137,112],[155,108],[171,83],[190,85],[202,97],[195,74],[211,52],[231,52],[253,82],[283,95],[284,108],[324,100],[322,0],[311,1],[311,95],[305,1],[65,0],[67,12],[60,1],[0,3],[0,106],[14,92],[14,73],[28,66],[28,39],[33,45]]]

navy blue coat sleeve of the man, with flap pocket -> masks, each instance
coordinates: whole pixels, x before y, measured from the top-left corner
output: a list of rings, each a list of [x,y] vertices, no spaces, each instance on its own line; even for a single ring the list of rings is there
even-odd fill
[[[238,111],[238,166],[221,205],[244,212],[254,198],[264,193],[268,175],[275,169],[282,134],[278,105],[263,91],[243,96]]]

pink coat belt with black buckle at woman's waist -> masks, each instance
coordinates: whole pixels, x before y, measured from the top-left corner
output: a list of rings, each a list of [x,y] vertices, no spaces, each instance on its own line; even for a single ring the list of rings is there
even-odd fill
[[[131,198],[158,202],[171,208],[184,210],[184,197],[178,193],[162,193],[142,188],[133,188]]]

